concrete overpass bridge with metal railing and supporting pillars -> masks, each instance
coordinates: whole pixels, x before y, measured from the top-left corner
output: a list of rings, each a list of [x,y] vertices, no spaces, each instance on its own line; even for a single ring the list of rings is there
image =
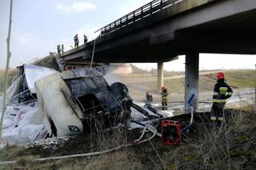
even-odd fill
[[[97,62],[158,62],[160,86],[162,62],[185,54],[188,101],[191,93],[198,94],[199,53],[255,54],[254,30],[255,0],[154,0],[103,26],[94,41],[61,57],[67,64],[92,56]]]

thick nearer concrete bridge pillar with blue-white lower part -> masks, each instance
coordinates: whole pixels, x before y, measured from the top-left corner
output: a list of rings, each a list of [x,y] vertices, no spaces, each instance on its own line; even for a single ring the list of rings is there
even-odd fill
[[[199,82],[199,53],[186,53],[185,69],[185,113],[190,113],[188,101],[194,96],[192,107],[194,111],[198,109],[198,82]]]

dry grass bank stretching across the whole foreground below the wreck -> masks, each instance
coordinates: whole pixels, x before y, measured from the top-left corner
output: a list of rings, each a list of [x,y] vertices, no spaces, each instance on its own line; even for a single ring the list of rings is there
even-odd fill
[[[38,162],[32,157],[90,152],[88,137],[78,136],[48,148],[9,146],[0,152],[2,160],[18,160],[2,169],[254,169],[256,167],[255,106],[226,110],[226,124],[211,128],[195,119],[194,128],[182,136],[179,146],[150,142],[101,156]],[[89,137],[90,138],[90,137]],[[127,142],[126,137],[101,138],[97,150]],[[118,142],[114,142],[118,141]],[[65,149],[63,149],[65,148]],[[159,154],[159,156],[158,156]]]

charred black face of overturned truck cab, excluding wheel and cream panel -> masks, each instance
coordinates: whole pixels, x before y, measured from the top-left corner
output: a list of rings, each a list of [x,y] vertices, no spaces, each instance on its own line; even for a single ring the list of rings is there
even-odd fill
[[[103,128],[112,127],[126,121],[127,110],[122,98],[116,96],[102,76],[65,79],[79,108],[82,110],[84,132],[90,131],[97,120]],[[122,90],[123,91],[123,90]],[[131,101],[128,93],[126,98]],[[129,109],[130,110],[130,109]],[[129,117],[130,118],[130,117]]]

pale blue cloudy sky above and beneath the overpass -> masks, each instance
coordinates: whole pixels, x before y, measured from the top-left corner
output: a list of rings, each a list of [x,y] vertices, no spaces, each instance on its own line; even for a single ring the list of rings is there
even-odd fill
[[[138,9],[150,0],[14,0],[10,38],[10,67],[28,63],[74,45],[74,34],[80,42],[86,34],[89,41],[98,36],[95,30]],[[10,1],[0,1],[0,68],[6,67]],[[232,59],[231,59],[232,57]],[[219,61],[222,61],[220,63]],[[185,57],[164,64],[164,69],[182,71]],[[255,69],[255,55],[200,54],[199,69]],[[155,63],[137,63],[142,69],[156,69]]]

